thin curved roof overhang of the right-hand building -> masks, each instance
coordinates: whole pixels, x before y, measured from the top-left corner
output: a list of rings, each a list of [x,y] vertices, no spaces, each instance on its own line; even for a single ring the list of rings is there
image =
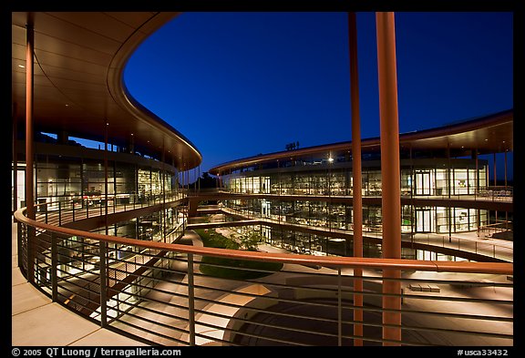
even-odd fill
[[[399,135],[399,146],[403,149],[430,150],[446,152],[451,156],[466,156],[476,150],[478,154],[512,151],[514,111],[509,109],[482,118],[465,120],[439,128],[413,131]],[[380,151],[380,138],[367,138],[361,141],[361,148],[368,152]],[[255,157],[232,160],[210,169],[217,175],[230,170],[249,167],[275,160],[298,159],[330,152],[336,155],[351,152],[352,142],[339,142],[315,147],[286,150]]]

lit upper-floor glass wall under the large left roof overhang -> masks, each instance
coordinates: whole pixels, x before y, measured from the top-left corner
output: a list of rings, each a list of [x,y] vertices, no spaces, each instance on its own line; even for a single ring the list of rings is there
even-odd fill
[[[160,166],[160,163],[157,164]],[[108,205],[128,204],[179,190],[176,169],[162,170],[156,164],[144,166],[129,162],[96,159],[58,160],[46,157],[37,161],[34,170],[35,198],[38,210],[58,210],[75,205],[75,209],[98,207],[108,195]],[[18,167],[16,182],[17,208],[25,203],[25,167]],[[107,179],[107,181],[106,181]],[[13,181],[13,180],[12,180]],[[14,189],[14,183],[12,186]]]

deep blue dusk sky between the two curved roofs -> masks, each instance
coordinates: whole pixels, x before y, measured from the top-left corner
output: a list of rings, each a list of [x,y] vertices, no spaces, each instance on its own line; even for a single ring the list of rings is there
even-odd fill
[[[512,22],[512,13],[396,13],[400,131],[513,107]],[[358,13],[357,31],[361,136],[371,138],[375,14]],[[199,148],[201,172],[290,142],[352,138],[346,13],[182,13],[139,46],[125,82]]]

